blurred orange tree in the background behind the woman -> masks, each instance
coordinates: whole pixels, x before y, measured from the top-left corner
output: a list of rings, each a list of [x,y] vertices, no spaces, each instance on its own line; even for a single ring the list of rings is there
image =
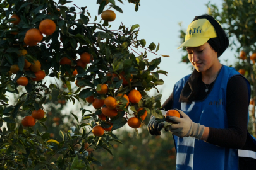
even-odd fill
[[[218,20],[226,31],[230,46],[229,49],[235,50],[236,62],[230,67],[245,76],[252,85],[251,101],[252,115],[250,115],[249,130],[255,136],[255,101],[256,101],[256,5],[254,1],[232,1],[224,0],[219,8],[208,3],[208,13]],[[185,31],[180,30],[181,40],[185,39]],[[185,50],[185,48],[183,48]],[[182,56],[182,62],[188,63],[188,57]]]

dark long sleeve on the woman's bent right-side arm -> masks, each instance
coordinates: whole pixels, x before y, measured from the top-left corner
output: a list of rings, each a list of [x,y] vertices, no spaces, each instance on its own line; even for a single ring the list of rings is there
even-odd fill
[[[241,149],[247,139],[248,88],[241,75],[231,77],[227,85],[228,128],[210,128],[207,142],[220,147]]]

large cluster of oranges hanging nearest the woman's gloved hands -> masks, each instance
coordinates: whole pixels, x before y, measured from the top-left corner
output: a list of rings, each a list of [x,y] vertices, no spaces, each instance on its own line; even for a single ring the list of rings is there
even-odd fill
[[[111,76],[111,74],[108,73],[106,76]],[[113,76],[112,77],[113,79],[117,75],[112,74],[112,76]],[[96,89],[98,94],[108,93],[109,87],[107,86],[107,84],[99,84],[99,86],[101,87],[100,90]],[[113,127],[113,124],[111,122],[106,121],[107,118],[113,118],[118,115],[118,111],[123,111],[121,108],[122,105],[124,106],[124,108],[127,108],[130,102],[133,104],[139,103],[140,100],[142,99],[142,95],[138,90],[133,89],[128,93],[128,95],[123,93],[118,93],[114,97],[107,96],[105,99],[98,99],[98,98],[95,98],[94,95],[92,95],[85,99],[88,103],[92,103],[92,106],[94,106],[95,109],[101,109],[101,115],[98,115],[99,119],[102,122],[108,123],[110,125],[110,127],[108,128],[104,128],[101,125],[97,125],[94,128],[92,128],[92,133],[94,133],[95,136],[101,136],[104,134],[104,131],[111,131]],[[123,103],[123,101],[126,101],[126,103]],[[138,108],[137,113],[140,110],[144,110],[144,109]],[[145,117],[147,116],[146,110],[144,111],[143,115],[140,116],[140,118],[138,118],[137,113],[135,113],[133,117],[128,119],[127,123],[132,128],[139,128],[141,126],[140,118],[142,120],[145,120]]]

